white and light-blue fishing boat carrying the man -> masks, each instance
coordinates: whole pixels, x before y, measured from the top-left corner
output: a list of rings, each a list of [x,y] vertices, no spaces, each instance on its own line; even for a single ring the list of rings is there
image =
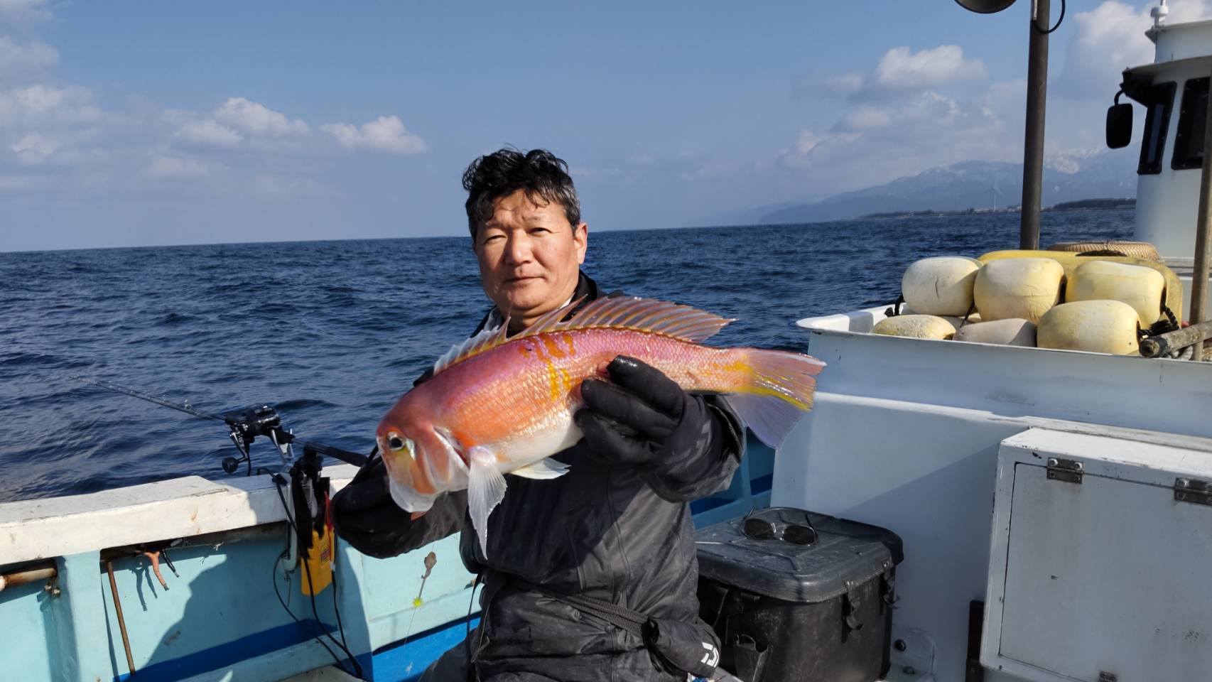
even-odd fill
[[[1180,279],[1183,317],[1207,320],[1196,207],[1212,173],[1191,150],[1206,149],[1212,21],[1167,24],[1162,2],[1148,35],[1156,61],[1121,85],[1147,108],[1136,234]],[[732,487],[692,505],[696,526],[778,505],[899,535],[888,681],[1208,678],[1204,327],[1156,338],[1190,349],[1179,360],[871,333],[890,313],[797,322],[828,363],[816,407],[777,452],[750,439]],[[246,417],[233,432],[265,422]],[[338,489],[355,470],[322,474]],[[4,678],[415,680],[475,626],[458,538],[387,560],[338,539],[324,586],[299,561],[288,489],[191,476],[0,504]]]

